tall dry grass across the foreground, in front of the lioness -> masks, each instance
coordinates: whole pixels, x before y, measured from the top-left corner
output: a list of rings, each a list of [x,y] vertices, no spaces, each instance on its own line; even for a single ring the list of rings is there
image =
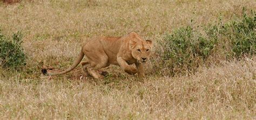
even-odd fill
[[[253,119],[255,59],[201,68],[191,77],[1,80],[1,119]],[[2,77],[3,79],[4,77]]]

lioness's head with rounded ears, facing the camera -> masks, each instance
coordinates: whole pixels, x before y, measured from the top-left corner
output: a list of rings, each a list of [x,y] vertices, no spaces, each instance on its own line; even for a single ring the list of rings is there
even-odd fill
[[[130,49],[132,57],[138,62],[146,62],[151,55],[152,41],[150,40],[131,40]]]

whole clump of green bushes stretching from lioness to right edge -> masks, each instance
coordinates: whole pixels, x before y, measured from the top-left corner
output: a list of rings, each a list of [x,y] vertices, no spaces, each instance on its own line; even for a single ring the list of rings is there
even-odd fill
[[[248,16],[243,10],[242,17],[226,24],[220,20],[217,25],[188,25],[166,34],[160,42],[162,49],[157,50],[161,66],[171,74],[191,73],[209,61],[213,52],[227,59],[255,55],[255,12]]]

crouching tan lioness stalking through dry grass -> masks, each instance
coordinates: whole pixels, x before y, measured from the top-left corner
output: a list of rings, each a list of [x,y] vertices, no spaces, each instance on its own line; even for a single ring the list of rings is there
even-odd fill
[[[100,37],[84,44],[76,62],[69,69],[58,73],[46,73],[49,76],[68,73],[76,68],[85,55],[88,60],[81,63],[83,70],[93,78],[102,79],[103,76],[97,70],[111,64],[120,65],[129,74],[138,72],[139,77],[144,77],[143,64],[149,59],[151,48],[152,41],[145,41],[134,32],[120,38]],[[135,64],[136,68],[132,64]]]

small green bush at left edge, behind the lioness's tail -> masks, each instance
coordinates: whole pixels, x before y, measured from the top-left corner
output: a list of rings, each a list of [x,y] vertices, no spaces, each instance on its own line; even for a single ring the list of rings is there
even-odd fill
[[[17,70],[26,64],[26,57],[21,43],[21,32],[13,34],[12,40],[10,40],[0,31],[0,64],[2,68]]]

